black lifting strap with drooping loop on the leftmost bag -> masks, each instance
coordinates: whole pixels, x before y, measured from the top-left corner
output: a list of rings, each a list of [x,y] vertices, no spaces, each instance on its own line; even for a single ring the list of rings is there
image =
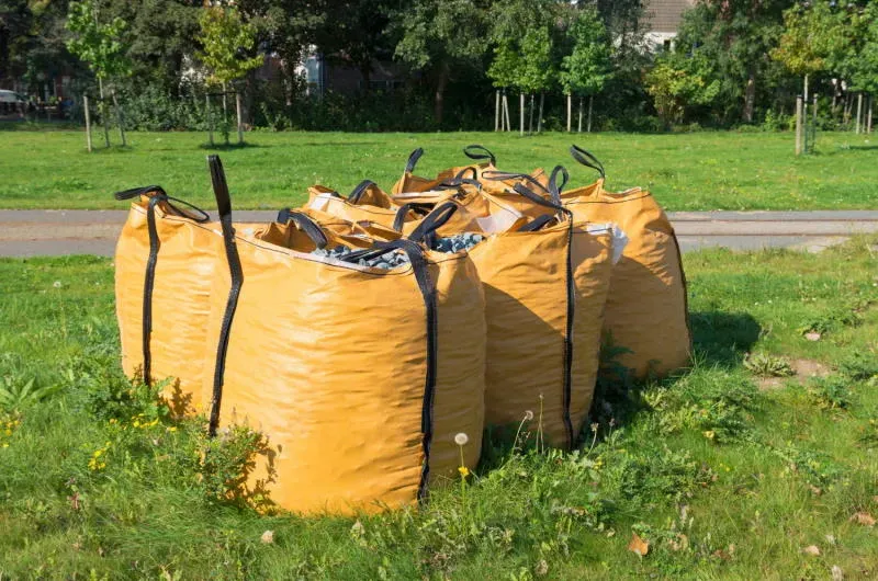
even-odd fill
[[[181,216],[183,218],[190,218],[195,221],[202,223],[207,221],[210,216],[203,209],[193,206],[188,202],[183,202],[182,200],[178,200],[176,197],[170,197],[165,189],[160,185],[146,185],[143,187],[133,187],[131,190],[124,190],[122,192],[116,192],[113,194],[113,197],[116,200],[133,200],[135,197],[140,196],[149,196],[149,204],[146,207],[146,229],[149,233],[149,255],[146,259],[146,270],[144,272],[144,300],[143,300],[143,324],[142,329],[142,349],[144,355],[144,365],[143,365],[143,379],[144,384],[151,385],[153,381],[153,352],[150,349],[150,341],[153,337],[153,289],[156,285],[156,264],[158,263],[158,251],[161,248],[161,241],[158,238],[158,227],[156,226],[156,206],[164,202],[165,207],[172,214]],[[194,209],[195,212],[200,213],[200,216],[188,214],[176,205],[173,205],[170,201],[175,201],[177,203],[183,204],[189,206],[190,208]]]

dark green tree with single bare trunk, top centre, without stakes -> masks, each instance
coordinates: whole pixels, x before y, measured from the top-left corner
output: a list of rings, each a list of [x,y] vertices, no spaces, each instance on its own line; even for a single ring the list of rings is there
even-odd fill
[[[441,125],[454,71],[482,65],[487,49],[484,9],[472,0],[415,0],[394,12],[392,27],[399,37],[396,58],[431,78],[434,117]]]

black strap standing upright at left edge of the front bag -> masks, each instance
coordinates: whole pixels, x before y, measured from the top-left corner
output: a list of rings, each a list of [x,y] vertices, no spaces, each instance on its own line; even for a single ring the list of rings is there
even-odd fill
[[[226,175],[223,172],[223,163],[218,156],[207,156],[207,166],[211,170],[211,181],[213,182],[213,193],[216,196],[216,207],[219,210],[219,224],[223,227],[223,242],[226,249],[226,260],[232,275],[232,286],[228,290],[226,310],[223,315],[223,326],[219,329],[219,342],[216,346],[216,366],[213,375],[213,396],[211,398],[211,418],[207,426],[207,434],[216,435],[219,425],[219,407],[223,401],[223,377],[226,367],[226,353],[228,351],[228,338],[232,331],[232,321],[235,318],[235,309],[238,306],[240,287],[244,284],[244,272],[240,265],[238,248],[235,243],[235,229],[232,227],[232,200],[228,195]]]

